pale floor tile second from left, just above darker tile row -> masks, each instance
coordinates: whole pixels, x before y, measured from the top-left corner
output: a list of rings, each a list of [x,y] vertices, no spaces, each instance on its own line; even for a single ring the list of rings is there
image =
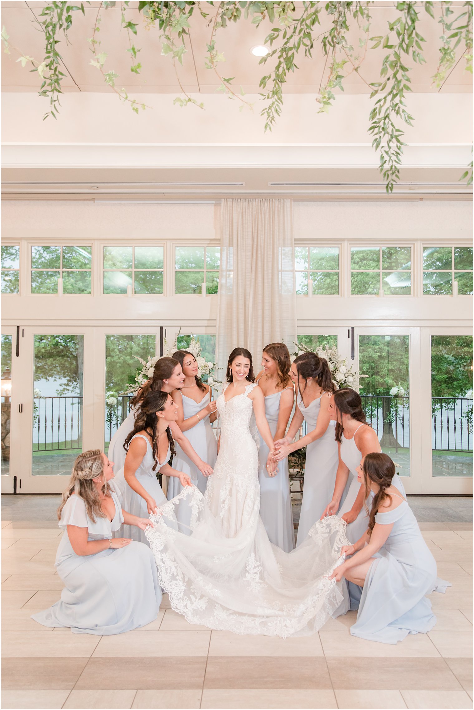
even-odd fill
[[[206,656],[211,632],[207,631],[129,631],[103,636],[94,657],[111,656]]]

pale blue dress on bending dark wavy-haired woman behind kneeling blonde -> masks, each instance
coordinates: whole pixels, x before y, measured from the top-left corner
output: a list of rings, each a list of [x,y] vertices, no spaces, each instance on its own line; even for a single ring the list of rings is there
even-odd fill
[[[149,495],[153,498],[156,505],[162,506],[163,503],[166,503],[166,496],[161,490],[161,486],[158,483],[156,476],[160,467],[167,464],[170,460],[170,447],[168,446],[165,460],[161,461],[160,464],[157,464],[155,471],[153,471],[155,459],[153,457],[153,449],[150,441],[148,440],[148,437],[145,437],[143,434],[136,434],[131,438],[131,441],[137,437],[145,439],[146,453],[140,466],[138,466],[138,469],[135,472],[135,477],[138,483],[142,485],[143,488],[145,488],[145,491],[147,491],[147,493],[149,493]],[[133,488],[128,485],[125,477],[123,476],[123,469],[118,471],[114,482],[118,488],[119,498],[123,510],[127,510],[127,512],[132,515],[138,515],[138,518],[148,518],[149,513],[145,499],[139,496],[138,493],[136,493]],[[119,531],[115,537],[131,537],[132,540],[138,540],[138,542],[144,542],[145,545],[148,545],[145,532],[140,530],[140,528],[136,528],[135,525],[123,525],[122,530]]]

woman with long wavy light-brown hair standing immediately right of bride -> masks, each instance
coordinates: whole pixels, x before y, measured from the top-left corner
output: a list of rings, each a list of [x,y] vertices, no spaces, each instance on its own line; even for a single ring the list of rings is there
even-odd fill
[[[270,343],[263,349],[261,371],[256,379],[265,396],[265,417],[274,441],[287,430],[294,405],[294,388],[290,380],[290,352],[284,343]],[[294,526],[290,495],[288,458],[278,463],[278,473],[270,476],[267,460],[270,450],[260,436],[258,481],[260,483],[260,518],[268,539],[285,552],[294,549]]]

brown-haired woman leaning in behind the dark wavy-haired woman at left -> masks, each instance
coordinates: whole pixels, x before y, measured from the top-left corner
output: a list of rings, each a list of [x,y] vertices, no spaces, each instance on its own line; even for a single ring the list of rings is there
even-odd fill
[[[184,375],[179,362],[170,357],[162,357],[156,362],[153,370],[153,376],[143,384],[143,387],[141,387],[136,395],[130,400],[130,413],[128,414],[128,417],[123,420],[120,427],[118,427],[118,430],[111,438],[108,455],[115,461],[117,478],[119,476],[123,478],[123,466],[125,466],[126,457],[126,449],[124,449],[124,444],[128,435],[130,435],[130,432],[135,427],[135,420],[138,416],[143,398],[145,398],[145,396],[150,392],[170,393],[176,388],[181,387],[183,382]],[[197,455],[176,422],[170,422],[170,430],[175,442],[180,444],[180,447],[193,462],[198,471],[200,471],[204,476],[209,476],[212,473],[212,466],[209,466],[205,460],[203,461],[203,459]]]

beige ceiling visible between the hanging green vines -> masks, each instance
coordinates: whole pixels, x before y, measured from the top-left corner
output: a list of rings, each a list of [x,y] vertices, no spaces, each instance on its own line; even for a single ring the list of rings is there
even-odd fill
[[[21,53],[31,55],[35,59],[42,59],[44,46],[43,35],[38,31],[35,18],[39,16],[43,1],[28,0],[28,2],[9,1],[1,4],[1,24],[6,27],[10,35],[11,43],[17,47]],[[206,5],[206,3],[202,3]],[[299,3],[301,5],[301,3]],[[435,13],[440,12],[440,3],[435,3]],[[453,3],[461,6],[462,3]],[[74,13],[74,23],[69,33],[69,44],[61,40],[59,45],[60,53],[63,57],[63,71],[65,80],[63,90],[65,92],[109,92],[99,70],[89,64],[92,54],[87,39],[92,36],[99,8],[98,2],[84,4],[85,16],[81,12]],[[104,70],[114,70],[118,73],[119,79],[116,84],[124,87],[127,92],[140,93],[176,93],[180,94],[180,86],[172,62],[169,58],[161,55],[158,28],[146,31],[143,27],[143,16],[138,13],[137,3],[131,3],[130,9],[126,10],[126,17],[131,21],[138,22],[138,35],[134,38],[137,48],[140,49],[138,60],[143,66],[140,75],[135,75],[130,70],[130,54],[126,52],[128,48],[128,36],[125,31],[121,31],[121,9],[117,3],[116,8],[109,8],[101,11],[100,51],[107,53]],[[208,7],[209,17],[214,17],[215,9]],[[392,4],[387,2],[376,2],[371,6],[370,13],[373,17],[370,27],[370,36],[385,34],[387,21],[397,16]],[[424,45],[424,55],[426,64],[414,65],[412,76],[412,89],[414,92],[472,92],[472,76],[464,71],[464,60],[458,61],[450,75],[447,77],[441,89],[432,85],[431,77],[436,71],[438,63],[439,35],[441,29],[439,24],[430,18],[424,8],[419,8],[420,24],[419,32],[426,39]],[[321,32],[324,31],[325,24],[329,27],[324,10],[321,12]],[[216,33],[216,47],[224,52],[226,62],[219,65],[219,70],[226,76],[233,76],[233,84],[236,87],[243,87],[246,93],[258,93],[259,81],[262,75],[272,68],[272,60],[265,65],[258,64],[258,58],[250,54],[250,48],[256,44],[262,44],[265,36],[270,31],[271,24],[264,21],[258,28],[250,23],[250,20],[231,23],[227,28],[218,30]],[[202,18],[195,12],[191,18],[191,28],[189,38],[186,38],[187,53],[184,55],[183,64],[179,66],[179,80],[182,87],[187,92],[209,94],[214,92],[220,84],[219,77],[213,70],[204,68],[204,55],[206,53],[206,43],[209,42],[211,28],[209,18]],[[362,31],[356,29],[349,33],[348,38],[354,46],[358,46],[359,36]],[[366,82],[375,82],[379,78],[382,58],[387,50],[377,48],[368,50],[360,75],[352,72],[344,81],[344,92],[346,94],[363,94],[370,91]],[[461,58],[461,45],[458,48],[458,57]],[[21,67],[17,62],[18,53],[11,55],[2,53],[1,62],[1,83],[4,92],[35,92],[38,90],[39,77],[36,72],[28,70],[28,66]],[[408,63],[413,63],[410,59]],[[298,58],[299,70],[288,77],[285,84],[287,93],[309,93],[319,92],[321,81],[327,75],[325,71],[325,58],[321,48],[318,46],[314,50],[312,59],[305,58],[304,55]],[[362,78],[363,77],[363,78]]]

